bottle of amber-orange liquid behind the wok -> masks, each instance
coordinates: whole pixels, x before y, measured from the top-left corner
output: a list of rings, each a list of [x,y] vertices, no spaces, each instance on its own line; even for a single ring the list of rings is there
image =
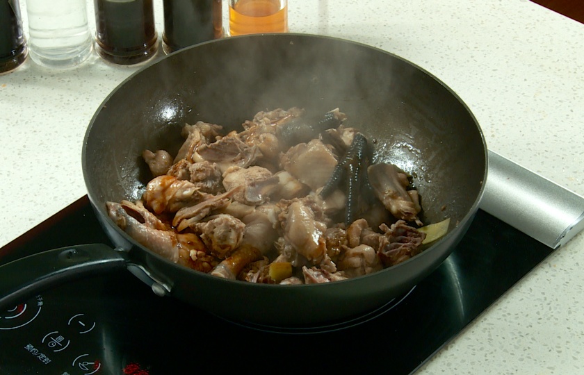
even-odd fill
[[[229,0],[229,35],[287,32],[287,0]]]

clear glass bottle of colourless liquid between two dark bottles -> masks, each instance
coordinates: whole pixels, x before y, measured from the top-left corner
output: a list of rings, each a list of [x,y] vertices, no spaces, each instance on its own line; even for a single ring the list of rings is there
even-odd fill
[[[31,58],[47,67],[73,67],[90,56],[93,42],[86,0],[26,0]]]

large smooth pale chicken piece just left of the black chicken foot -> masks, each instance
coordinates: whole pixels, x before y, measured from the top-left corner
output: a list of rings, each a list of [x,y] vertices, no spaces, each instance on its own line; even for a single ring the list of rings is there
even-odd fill
[[[291,147],[280,163],[286,172],[316,191],[327,183],[336,167],[336,158],[321,140],[311,140]]]

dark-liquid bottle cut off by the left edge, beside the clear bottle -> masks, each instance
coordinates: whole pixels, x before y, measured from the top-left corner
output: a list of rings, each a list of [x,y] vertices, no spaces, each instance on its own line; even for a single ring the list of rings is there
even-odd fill
[[[15,69],[27,55],[19,2],[0,0],[0,73]]]

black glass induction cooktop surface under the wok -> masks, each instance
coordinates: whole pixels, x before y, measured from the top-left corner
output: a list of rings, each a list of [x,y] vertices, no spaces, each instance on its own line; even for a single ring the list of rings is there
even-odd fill
[[[110,244],[83,197],[0,249],[0,264]],[[410,374],[553,251],[479,210],[462,242],[402,297],[320,327],[227,322],[156,297],[127,271],[68,283],[0,313],[0,374]]]

